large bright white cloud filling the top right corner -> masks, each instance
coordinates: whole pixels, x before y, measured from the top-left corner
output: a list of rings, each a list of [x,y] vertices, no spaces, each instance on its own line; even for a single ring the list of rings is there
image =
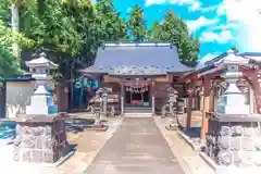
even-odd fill
[[[217,14],[237,22],[236,45],[239,51],[261,51],[261,0],[223,0]]]

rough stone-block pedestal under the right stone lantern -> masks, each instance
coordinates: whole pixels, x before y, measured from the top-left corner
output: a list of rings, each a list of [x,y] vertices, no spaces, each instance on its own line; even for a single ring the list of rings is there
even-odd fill
[[[209,120],[206,152],[220,165],[261,166],[260,124]]]

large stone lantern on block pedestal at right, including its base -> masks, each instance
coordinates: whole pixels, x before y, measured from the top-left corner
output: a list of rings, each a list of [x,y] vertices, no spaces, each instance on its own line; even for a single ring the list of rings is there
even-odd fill
[[[217,100],[217,112],[209,116],[206,154],[215,163],[215,172],[257,173],[261,169],[261,115],[250,114],[246,96],[236,82],[239,66],[249,60],[228,52],[217,66],[225,69],[227,88]]]

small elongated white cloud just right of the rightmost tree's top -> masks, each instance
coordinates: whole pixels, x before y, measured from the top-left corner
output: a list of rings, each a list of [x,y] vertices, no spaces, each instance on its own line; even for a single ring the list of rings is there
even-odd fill
[[[195,21],[187,21],[187,26],[190,33],[192,33],[202,26],[210,26],[216,23],[217,23],[217,18],[210,20],[210,18],[206,18],[204,16],[200,16],[198,20],[195,20]]]

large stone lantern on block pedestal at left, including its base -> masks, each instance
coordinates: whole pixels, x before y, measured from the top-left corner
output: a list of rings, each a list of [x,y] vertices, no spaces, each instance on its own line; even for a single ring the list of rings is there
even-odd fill
[[[58,65],[47,60],[44,53],[26,62],[26,65],[38,87],[30,98],[30,105],[26,107],[26,114],[15,119],[13,159],[16,162],[55,163],[69,152],[65,122],[58,113],[47,85],[47,79],[51,77],[50,70]]]

